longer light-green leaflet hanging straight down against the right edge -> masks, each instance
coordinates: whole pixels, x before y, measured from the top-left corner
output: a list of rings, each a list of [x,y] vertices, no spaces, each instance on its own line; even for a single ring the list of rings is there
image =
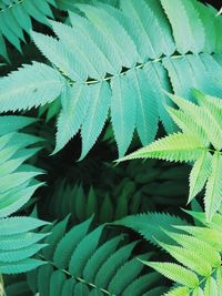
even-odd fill
[[[222,156],[215,152],[212,157],[212,172],[209,176],[204,196],[206,220],[211,221],[212,216],[216,213],[221,205],[222,198]]]

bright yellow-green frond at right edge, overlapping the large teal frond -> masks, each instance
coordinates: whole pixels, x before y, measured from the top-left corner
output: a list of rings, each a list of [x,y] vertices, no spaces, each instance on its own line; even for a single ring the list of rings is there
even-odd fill
[[[171,134],[123,157],[161,159],[167,161],[194,162],[190,174],[189,202],[206,183],[204,204],[210,221],[221,206],[221,100],[194,92],[200,105],[176,95],[170,95],[180,110],[168,109],[182,133]],[[211,146],[213,150],[211,149]]]

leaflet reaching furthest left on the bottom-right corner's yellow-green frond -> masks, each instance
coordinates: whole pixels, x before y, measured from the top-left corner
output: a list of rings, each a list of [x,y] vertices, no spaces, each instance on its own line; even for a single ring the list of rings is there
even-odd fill
[[[186,268],[174,264],[174,263],[163,263],[163,262],[144,262],[143,264],[154,268],[157,272],[161,273],[165,277],[182,284],[190,288],[195,288],[199,285],[198,276]]]

